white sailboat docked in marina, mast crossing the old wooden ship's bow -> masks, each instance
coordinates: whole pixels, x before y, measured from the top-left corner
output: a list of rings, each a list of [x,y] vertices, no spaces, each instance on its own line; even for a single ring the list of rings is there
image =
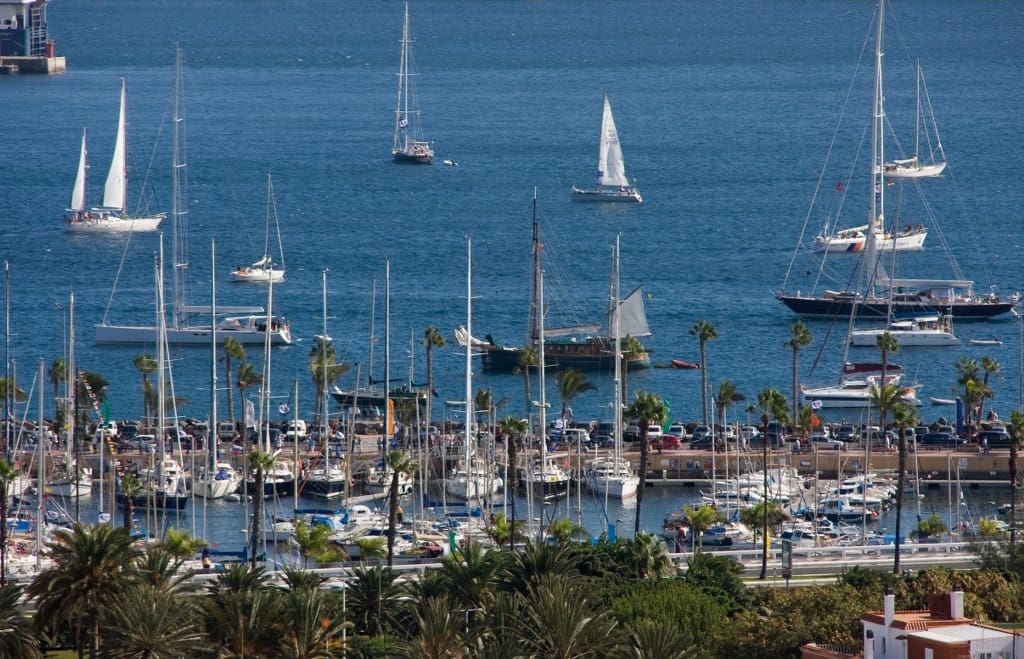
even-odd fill
[[[466,325],[473,327],[473,240],[466,239]],[[477,455],[476,424],[473,412],[473,346],[466,348],[466,432],[463,436],[462,464],[444,481],[450,496],[464,501],[480,500],[498,493],[504,485],[502,479]]]

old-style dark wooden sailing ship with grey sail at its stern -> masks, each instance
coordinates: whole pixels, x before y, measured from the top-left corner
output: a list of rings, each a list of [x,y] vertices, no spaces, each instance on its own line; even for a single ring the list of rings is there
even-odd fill
[[[534,280],[529,307],[528,345],[537,345],[541,324],[538,322],[538,307],[532,302],[537,299],[537,290],[541,275],[541,229],[538,222],[537,195],[534,195]],[[647,314],[643,304],[643,291],[637,287],[626,299],[616,303],[618,322],[623,337],[640,339],[650,336],[647,325]],[[608,297],[607,332],[600,334],[601,325],[577,324],[572,326],[547,327],[544,331],[545,351],[548,356],[548,366],[555,369],[578,368],[581,370],[600,370],[611,372],[615,363],[614,340],[610,336],[614,322],[615,306],[612,297]],[[488,372],[513,372],[518,366],[522,348],[510,348],[495,343],[487,335],[486,340],[473,338],[465,327],[455,332],[456,340],[462,345],[471,343],[483,355],[483,370]],[[641,349],[626,357],[628,368],[646,368],[650,365],[650,355]]]

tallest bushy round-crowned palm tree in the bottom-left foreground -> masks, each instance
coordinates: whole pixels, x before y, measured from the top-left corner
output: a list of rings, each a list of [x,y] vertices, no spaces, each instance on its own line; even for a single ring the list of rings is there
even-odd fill
[[[46,548],[53,567],[26,589],[37,601],[37,631],[65,621],[77,626],[84,618],[89,656],[98,656],[99,615],[137,580],[133,564],[141,552],[127,531],[110,524],[60,529]]]

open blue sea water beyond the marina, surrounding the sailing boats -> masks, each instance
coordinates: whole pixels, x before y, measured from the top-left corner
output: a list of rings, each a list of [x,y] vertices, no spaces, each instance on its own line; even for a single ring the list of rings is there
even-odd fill
[[[688,331],[708,319],[718,331],[708,347],[714,388],[728,379],[749,398],[768,386],[788,396],[784,344],[795,316],[772,293],[783,283],[844,107],[854,130],[836,149],[848,169],[858,146],[862,152],[873,4],[418,0],[410,11],[418,100],[437,153],[433,167],[400,167],[390,159],[399,2],[54,2],[51,36],[68,58],[67,74],[0,81],[0,256],[10,264],[10,357],[24,388],[38,359],[48,363],[62,353],[74,291],[80,367],[111,382],[115,416],[141,412],[132,357],[143,349],[95,346],[92,326],[104,313],[115,323],[152,321],[157,236],[130,243],[71,236],[60,218],[83,127],[90,199],[100,193],[122,78],[129,194],[144,192],[151,210],[170,210],[177,43],[185,58],[189,299],[209,300],[215,238],[218,304],[264,303],[265,290],[232,284],[226,274],[262,249],[271,173],[288,266],[274,310],[300,339],[273,351],[272,389],[287,395],[298,380],[303,412],[313,406],[306,357],[321,332],[324,268],[330,269],[328,332],[340,357],[360,364],[364,378],[375,279],[374,376],[384,376],[383,278],[390,259],[392,378],[415,369],[413,380],[424,380],[419,340],[434,325],[450,344],[435,356],[439,397],[463,396],[463,355],[451,332],[466,321],[467,235],[474,249],[474,334],[519,344],[526,334],[535,189],[553,309],[601,319],[609,246],[621,233],[623,289],[642,283],[648,294],[654,361],[695,361],[697,343]],[[912,62],[920,57],[950,162],[947,176],[922,183],[938,199],[924,217],[932,234],[903,271],[954,274],[946,245],[979,291],[1021,290],[1024,6],[906,0],[890,5],[889,15],[886,100],[899,139],[912,140]],[[569,203],[568,188],[595,175],[603,93],[615,113],[627,171],[645,197],[638,207]],[[459,166],[441,166],[443,159]],[[828,176],[822,195],[842,178]],[[856,189],[847,201],[848,224],[866,218],[866,194]],[[822,221],[809,219],[808,239]],[[798,260],[786,285],[809,289],[810,269]],[[801,379],[831,381],[845,324],[810,327],[815,342],[802,352]],[[1020,325],[1008,316],[957,332],[962,348],[915,348],[897,359],[923,384],[924,398],[948,397],[955,361],[991,354],[1004,365],[994,406],[1006,415],[1021,391]],[[1004,345],[966,342],[991,337]],[[259,350],[250,352],[262,368]],[[871,359],[873,352],[851,356]],[[171,357],[176,392],[189,401],[184,413],[205,416],[208,351],[175,348]],[[610,378],[595,376],[595,384],[597,392],[573,402],[578,415],[608,414]],[[630,387],[663,395],[674,418],[700,416],[698,372],[652,368],[631,375]],[[477,366],[474,388],[492,388],[496,398],[508,397],[508,409],[522,408],[517,377],[488,376]],[[553,384],[549,398],[557,400]],[[924,412],[930,421],[939,413]]]

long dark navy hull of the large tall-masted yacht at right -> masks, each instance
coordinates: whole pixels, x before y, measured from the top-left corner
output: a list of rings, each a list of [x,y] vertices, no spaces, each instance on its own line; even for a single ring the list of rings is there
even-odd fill
[[[858,318],[887,318],[890,309],[894,314],[931,315],[945,313],[959,320],[988,320],[1010,313],[1014,301],[995,298],[992,300],[855,300],[853,296],[807,297],[779,294],[779,302],[794,313],[808,318],[849,317],[854,307]],[[891,306],[890,306],[891,305]]]

